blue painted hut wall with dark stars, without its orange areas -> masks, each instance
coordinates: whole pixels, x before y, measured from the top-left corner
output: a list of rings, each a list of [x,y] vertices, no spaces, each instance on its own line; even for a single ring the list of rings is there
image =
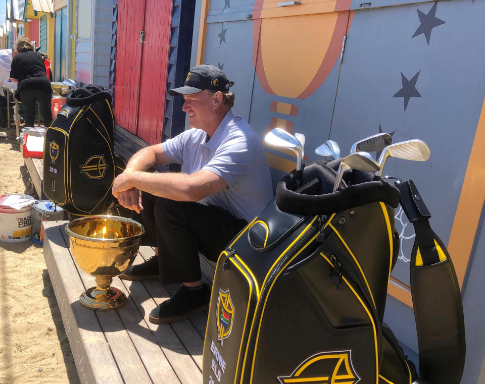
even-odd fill
[[[249,17],[254,1],[210,2],[204,62],[223,68],[235,82],[234,112],[249,120],[261,136],[270,128],[271,118],[290,121],[293,132],[304,133],[308,160],[317,159],[314,149],[329,138],[340,144],[344,155],[357,139],[380,130],[393,133],[394,142],[424,140],[431,150],[427,162],[389,159],[384,174],[415,181],[432,213],[433,230],[447,244],[485,96],[482,42],[485,2],[377,0],[369,3],[352,0],[350,9],[355,12],[343,61],[337,60],[322,85],[306,98],[276,96],[263,89],[254,66],[255,21]],[[200,4],[199,0],[192,65],[196,64]],[[302,28],[294,33],[308,32]],[[280,64],[287,64],[285,57]],[[298,114],[287,116],[273,112],[272,101],[296,105]],[[272,149],[268,152],[295,159]],[[275,180],[283,174],[272,169]],[[414,233],[403,216],[396,211],[402,249],[393,276],[409,284],[409,254]],[[478,382],[485,357],[482,221],[483,212],[462,287],[467,338],[463,384]],[[417,362],[412,308],[388,295],[384,321],[390,324],[405,352]]]

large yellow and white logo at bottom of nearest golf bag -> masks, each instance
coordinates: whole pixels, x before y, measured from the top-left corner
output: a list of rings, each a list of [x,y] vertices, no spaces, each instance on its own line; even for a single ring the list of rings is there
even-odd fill
[[[360,377],[352,365],[351,351],[321,352],[300,363],[289,376],[279,376],[281,384],[356,384]]]

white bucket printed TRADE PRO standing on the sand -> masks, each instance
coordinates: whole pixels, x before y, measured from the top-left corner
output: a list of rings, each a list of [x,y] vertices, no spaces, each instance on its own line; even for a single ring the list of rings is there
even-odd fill
[[[30,239],[32,196],[11,193],[0,196],[0,241],[16,243]]]

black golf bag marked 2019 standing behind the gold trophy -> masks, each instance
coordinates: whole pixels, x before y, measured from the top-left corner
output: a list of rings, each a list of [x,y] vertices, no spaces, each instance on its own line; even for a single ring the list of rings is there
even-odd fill
[[[113,181],[125,166],[114,153],[113,135],[108,92],[89,85],[68,94],[45,132],[45,196],[74,215],[105,212],[114,199]]]

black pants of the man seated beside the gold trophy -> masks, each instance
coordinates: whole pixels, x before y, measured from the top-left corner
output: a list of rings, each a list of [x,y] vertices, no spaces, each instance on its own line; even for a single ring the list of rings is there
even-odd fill
[[[199,252],[212,261],[247,224],[214,205],[142,193],[143,208],[132,218],[145,228],[142,245],[156,246],[163,284],[201,280]]]

